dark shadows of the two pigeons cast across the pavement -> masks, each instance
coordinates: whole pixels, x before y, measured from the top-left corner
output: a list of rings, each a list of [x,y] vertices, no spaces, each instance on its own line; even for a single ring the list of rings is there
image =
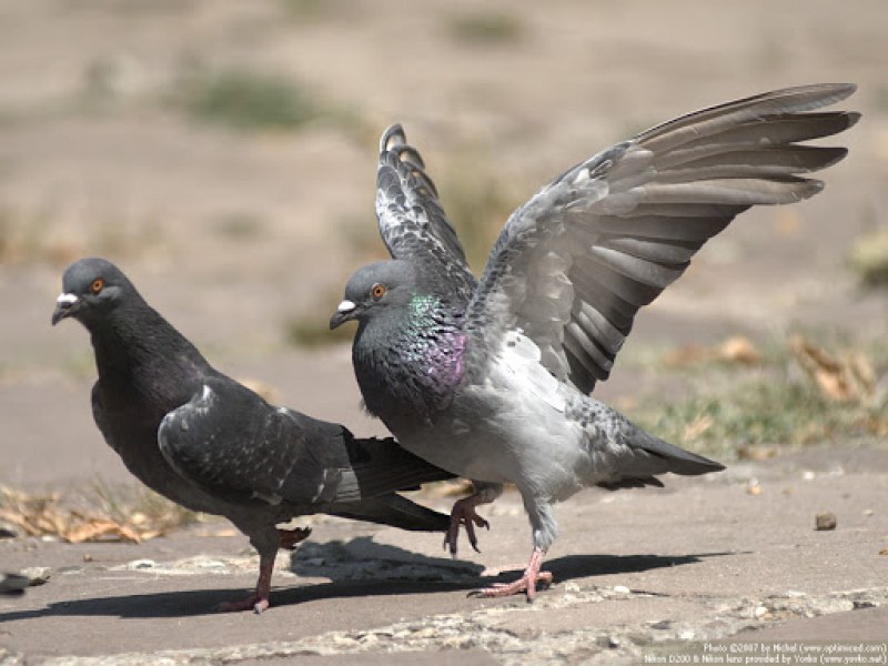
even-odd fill
[[[396,546],[373,543],[372,537],[313,546],[306,548],[302,557],[293,558],[291,569],[304,577],[325,577],[329,581],[297,583],[290,587],[279,583],[272,589],[273,608],[332,598],[470,592],[493,583],[511,582],[522,573],[521,568],[515,568],[497,575],[483,575],[485,569],[480,564],[428,557]],[[568,555],[547,561],[544,568],[552,572],[557,591],[559,584],[574,578],[683,566],[733,554]],[[214,614],[220,603],[242,598],[248,592],[244,588],[203,588],[80,598],[50,603],[43,608],[0,613],[0,623],[44,616],[159,618],[208,615]]]

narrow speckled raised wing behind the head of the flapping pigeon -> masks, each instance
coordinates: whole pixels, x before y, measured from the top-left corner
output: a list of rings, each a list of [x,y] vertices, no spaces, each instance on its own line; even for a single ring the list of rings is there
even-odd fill
[[[407,144],[400,124],[385,130],[380,140],[376,218],[383,242],[394,259],[423,263],[427,270],[444,275],[454,292],[468,301],[475,278],[423,159]]]

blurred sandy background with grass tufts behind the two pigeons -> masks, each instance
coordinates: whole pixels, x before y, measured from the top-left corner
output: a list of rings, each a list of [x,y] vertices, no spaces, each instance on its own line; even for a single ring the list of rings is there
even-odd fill
[[[383,433],[326,322],[384,256],[376,142],[402,122],[480,271],[507,214],[675,115],[851,81],[826,190],[741,215],[638,319],[599,394],[720,455],[881,442],[884,0],[0,1],[0,484],[129,481],[92,424],[63,269],[114,261],[223,372]]]

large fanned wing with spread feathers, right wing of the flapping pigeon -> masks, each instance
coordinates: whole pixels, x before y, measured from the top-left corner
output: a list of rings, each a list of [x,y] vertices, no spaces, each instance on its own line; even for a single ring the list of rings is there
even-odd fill
[[[799,145],[857,113],[809,111],[855,91],[767,92],[657,125],[565,172],[508,219],[468,307],[487,344],[521,329],[557,379],[587,393],[606,380],[635,313],[738,213],[823,189],[800,174],[844,148]]]

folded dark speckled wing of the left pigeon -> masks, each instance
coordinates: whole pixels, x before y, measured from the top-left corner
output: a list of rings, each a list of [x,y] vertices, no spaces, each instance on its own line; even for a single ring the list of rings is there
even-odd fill
[[[180,475],[226,502],[360,503],[453,476],[393,440],[355,440],[223,375],[163,418],[158,443]]]

